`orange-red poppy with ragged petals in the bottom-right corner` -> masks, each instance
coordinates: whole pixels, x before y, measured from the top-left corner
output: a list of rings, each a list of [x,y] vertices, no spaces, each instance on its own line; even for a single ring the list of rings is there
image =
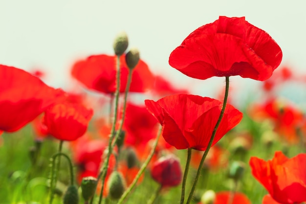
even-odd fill
[[[306,154],[288,159],[275,152],[272,160],[251,157],[253,176],[262,183],[271,197],[282,204],[306,201]]]

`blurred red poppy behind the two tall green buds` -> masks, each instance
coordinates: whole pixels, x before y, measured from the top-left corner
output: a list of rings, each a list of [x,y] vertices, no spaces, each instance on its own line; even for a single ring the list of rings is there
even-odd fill
[[[124,92],[129,73],[124,54],[120,57],[120,67],[120,92]],[[88,89],[114,93],[116,91],[116,56],[105,54],[89,56],[86,60],[78,61],[73,65],[72,76]],[[145,92],[152,88],[153,80],[153,74],[148,65],[139,60],[133,69],[130,91]]]

